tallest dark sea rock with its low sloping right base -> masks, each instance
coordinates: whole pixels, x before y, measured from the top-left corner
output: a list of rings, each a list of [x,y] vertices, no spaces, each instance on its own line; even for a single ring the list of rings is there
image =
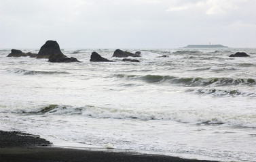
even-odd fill
[[[50,62],[79,62],[75,57],[67,57],[60,51],[56,41],[46,41],[41,47],[37,58],[48,58]]]

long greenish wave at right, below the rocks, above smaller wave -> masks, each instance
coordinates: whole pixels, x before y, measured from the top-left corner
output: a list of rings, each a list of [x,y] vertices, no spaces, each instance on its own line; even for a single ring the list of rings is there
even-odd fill
[[[229,85],[255,85],[256,81],[252,78],[200,78],[200,77],[176,77],[176,76],[160,76],[160,75],[125,75],[117,74],[118,78],[126,78],[132,80],[143,80],[148,83],[169,82],[170,84],[179,84],[182,86],[229,86]]]

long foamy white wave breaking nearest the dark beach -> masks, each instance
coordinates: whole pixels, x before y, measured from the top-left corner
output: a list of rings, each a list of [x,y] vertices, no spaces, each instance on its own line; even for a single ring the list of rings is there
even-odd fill
[[[72,107],[65,105],[47,105],[33,111],[22,111],[26,115],[82,115],[84,117],[111,119],[171,120],[187,124],[227,124],[256,128],[255,115],[221,113],[218,111],[149,111],[134,109],[114,109],[106,107]]]

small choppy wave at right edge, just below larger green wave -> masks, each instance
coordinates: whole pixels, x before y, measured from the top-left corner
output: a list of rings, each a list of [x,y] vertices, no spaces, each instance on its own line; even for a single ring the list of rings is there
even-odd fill
[[[196,94],[210,94],[214,97],[256,97],[256,92],[241,92],[240,90],[219,90],[215,88],[200,88],[196,90],[187,90],[187,92],[193,92]]]

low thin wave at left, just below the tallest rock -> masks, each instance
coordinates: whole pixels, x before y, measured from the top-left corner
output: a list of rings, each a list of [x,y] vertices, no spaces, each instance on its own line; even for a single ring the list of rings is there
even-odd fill
[[[21,75],[37,75],[37,74],[46,74],[46,75],[50,75],[50,74],[69,74],[69,72],[50,72],[50,71],[34,71],[34,70],[14,70],[12,71],[12,73],[14,74],[21,74]]]

